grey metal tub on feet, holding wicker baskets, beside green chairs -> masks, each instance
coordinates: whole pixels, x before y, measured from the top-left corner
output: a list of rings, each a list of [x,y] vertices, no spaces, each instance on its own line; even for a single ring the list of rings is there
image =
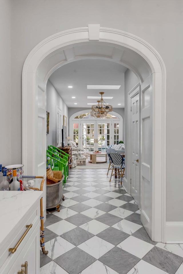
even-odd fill
[[[60,182],[52,185],[46,185],[46,208],[53,208],[59,205],[63,197],[63,179]]]

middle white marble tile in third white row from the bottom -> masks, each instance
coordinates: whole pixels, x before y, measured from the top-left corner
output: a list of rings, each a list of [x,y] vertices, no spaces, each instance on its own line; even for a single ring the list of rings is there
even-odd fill
[[[79,227],[81,227],[82,229],[85,229],[86,231],[96,235],[96,234],[102,232],[103,230],[107,229],[109,227],[109,225],[105,225],[105,224],[103,224],[99,221],[92,220],[92,221],[89,221],[89,222],[87,222],[83,225],[80,225]]]

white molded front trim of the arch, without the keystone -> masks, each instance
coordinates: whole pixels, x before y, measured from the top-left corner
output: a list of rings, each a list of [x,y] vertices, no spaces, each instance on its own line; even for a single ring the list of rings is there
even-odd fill
[[[22,161],[35,171],[36,73],[51,52],[89,41],[88,27],[70,29],[41,41],[27,56],[22,72]],[[99,41],[132,49],[150,65],[153,73],[153,224],[152,239],[164,242],[166,221],[166,69],[158,52],[139,37],[117,29],[100,28]],[[28,174],[28,173],[27,173]],[[156,197],[156,201],[155,201]]]

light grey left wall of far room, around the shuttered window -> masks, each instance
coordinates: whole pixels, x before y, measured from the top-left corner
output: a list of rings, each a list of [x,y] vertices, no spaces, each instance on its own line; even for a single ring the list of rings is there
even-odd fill
[[[46,135],[46,146],[53,145],[56,147],[57,106],[61,109],[62,127],[63,115],[68,119],[68,107],[65,105],[55,87],[48,80],[46,86],[46,110],[49,112],[49,134]]]

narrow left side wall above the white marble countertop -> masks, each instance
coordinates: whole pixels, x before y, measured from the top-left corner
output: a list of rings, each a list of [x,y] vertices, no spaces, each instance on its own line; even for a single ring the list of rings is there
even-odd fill
[[[21,116],[11,112],[11,3],[10,0],[0,1],[0,163],[5,165],[11,162],[11,134],[16,126],[21,133]],[[20,97],[20,94],[18,95]],[[20,107],[20,105],[19,105]],[[21,107],[20,107],[21,108]],[[15,125],[13,126],[13,122]],[[21,142],[21,140],[20,140]],[[21,150],[20,150],[21,156]],[[21,158],[20,158],[21,159]],[[15,162],[19,164],[18,162]]]

